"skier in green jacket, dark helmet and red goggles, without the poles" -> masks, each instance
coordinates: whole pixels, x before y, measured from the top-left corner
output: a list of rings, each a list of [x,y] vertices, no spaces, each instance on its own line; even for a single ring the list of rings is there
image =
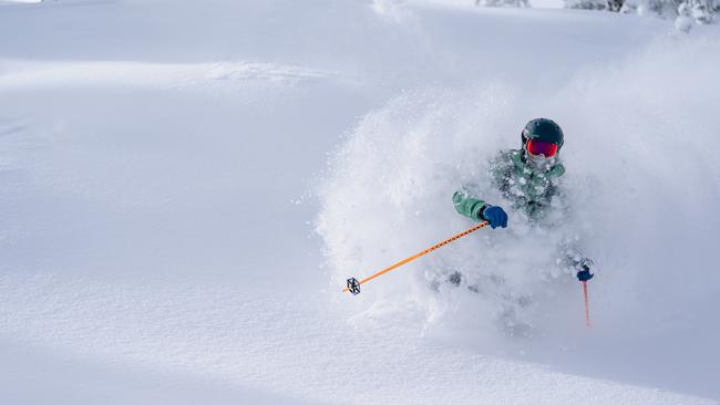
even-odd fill
[[[558,154],[564,135],[554,121],[536,118],[525,125],[521,138],[522,148],[502,150],[491,160],[490,174],[493,185],[512,208],[537,225],[554,209],[554,198],[562,197],[558,180],[565,174],[565,167]],[[473,197],[467,188],[455,191],[453,202],[460,214],[473,220],[486,220],[493,229],[507,227],[507,212],[502,207]],[[558,248],[562,263],[575,269],[579,281],[588,281],[595,276],[593,261],[582,256],[572,243]]]

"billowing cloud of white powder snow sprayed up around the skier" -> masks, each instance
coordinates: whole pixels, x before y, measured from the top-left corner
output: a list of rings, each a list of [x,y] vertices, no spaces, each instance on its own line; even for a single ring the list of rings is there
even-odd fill
[[[336,285],[469,228],[451,201],[463,184],[506,205],[488,185],[487,160],[518,147],[522,125],[536,116],[565,129],[572,214],[539,230],[511,211],[508,229],[482,229],[364,284],[353,299],[357,319],[392,322],[404,308],[422,314],[428,333],[461,333],[483,350],[520,345],[554,362],[583,350],[605,363],[598,367],[616,370],[627,353],[661,364],[692,334],[695,349],[678,362],[711,374],[719,360],[711,342],[720,336],[710,322],[720,303],[719,44],[669,38],[554,92],[491,80],[408,92],[368,114],[320,187],[318,232]],[[580,284],[554,261],[566,237],[598,268],[592,336],[583,334]],[[395,310],[387,315],[388,308]],[[508,335],[520,340],[507,343]]]

